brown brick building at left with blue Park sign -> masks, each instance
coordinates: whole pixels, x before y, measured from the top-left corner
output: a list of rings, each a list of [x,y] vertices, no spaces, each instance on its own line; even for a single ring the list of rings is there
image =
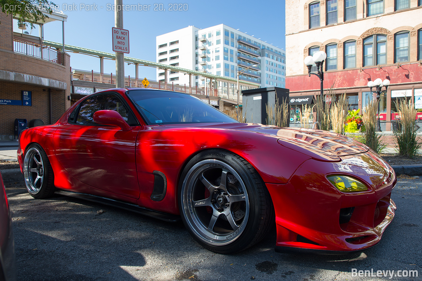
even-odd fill
[[[70,56],[42,43],[43,24],[66,18],[53,13],[25,30],[0,12],[0,140],[14,138],[16,118],[52,124],[70,107]]]

